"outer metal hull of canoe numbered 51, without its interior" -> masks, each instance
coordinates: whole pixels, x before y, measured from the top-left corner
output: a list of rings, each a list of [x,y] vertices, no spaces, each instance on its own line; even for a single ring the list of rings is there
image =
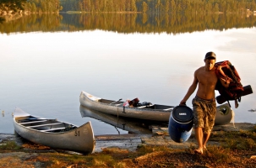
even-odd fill
[[[35,144],[43,144],[55,149],[71,150],[83,154],[90,154],[95,149],[95,138],[90,122],[65,132],[49,133],[30,129],[18,123],[20,119],[28,117],[21,117],[19,113],[16,113],[16,115],[14,113],[14,129],[24,139],[28,139]]]

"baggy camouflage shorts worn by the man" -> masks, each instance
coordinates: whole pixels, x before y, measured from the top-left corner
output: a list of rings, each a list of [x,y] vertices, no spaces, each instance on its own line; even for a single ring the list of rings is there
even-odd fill
[[[193,98],[193,128],[203,128],[204,134],[209,134],[215,125],[216,102],[204,100],[199,97]]]

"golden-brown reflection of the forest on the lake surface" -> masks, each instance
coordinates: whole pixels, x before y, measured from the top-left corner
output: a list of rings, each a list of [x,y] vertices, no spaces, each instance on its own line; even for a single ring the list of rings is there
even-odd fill
[[[222,31],[255,26],[256,17],[241,14],[61,13],[26,15],[17,20],[0,24],[0,32],[10,34],[101,29],[123,34],[182,34],[206,29]]]

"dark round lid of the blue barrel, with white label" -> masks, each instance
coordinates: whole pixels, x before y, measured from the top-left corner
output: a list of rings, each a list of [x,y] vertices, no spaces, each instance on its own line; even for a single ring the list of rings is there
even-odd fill
[[[172,110],[172,118],[181,123],[187,123],[193,119],[193,111],[188,106],[177,106]]]

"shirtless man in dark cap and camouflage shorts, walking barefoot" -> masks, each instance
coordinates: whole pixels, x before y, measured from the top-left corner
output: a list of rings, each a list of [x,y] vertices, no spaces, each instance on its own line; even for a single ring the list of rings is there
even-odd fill
[[[206,143],[210,138],[211,129],[215,123],[216,102],[215,85],[218,81],[215,75],[214,52],[206,53],[204,57],[205,65],[194,71],[193,83],[188,88],[188,92],[180,102],[180,105],[186,105],[188,98],[193,94],[199,84],[196,97],[193,98],[193,129],[199,148],[195,153],[203,154],[206,150]]]

